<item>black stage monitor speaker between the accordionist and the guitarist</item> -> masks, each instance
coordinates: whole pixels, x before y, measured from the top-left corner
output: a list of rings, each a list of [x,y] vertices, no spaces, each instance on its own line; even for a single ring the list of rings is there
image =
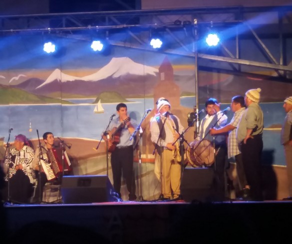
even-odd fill
[[[63,176],[63,203],[114,201],[114,188],[107,175]]]

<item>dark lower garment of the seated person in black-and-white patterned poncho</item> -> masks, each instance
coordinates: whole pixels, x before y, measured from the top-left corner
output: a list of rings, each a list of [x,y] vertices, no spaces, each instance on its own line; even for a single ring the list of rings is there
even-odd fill
[[[9,190],[9,192],[8,192]],[[25,173],[18,169],[16,173],[9,179],[4,189],[4,200],[10,200],[15,203],[29,203],[33,192],[33,184]],[[10,197],[8,197],[8,194]]]

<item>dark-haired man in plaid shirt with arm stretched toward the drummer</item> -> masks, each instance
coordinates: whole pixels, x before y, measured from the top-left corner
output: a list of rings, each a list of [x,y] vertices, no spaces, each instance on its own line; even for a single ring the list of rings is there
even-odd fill
[[[247,179],[243,167],[242,154],[239,148],[239,144],[236,140],[236,128],[238,126],[239,120],[245,111],[245,98],[241,95],[236,95],[232,97],[231,109],[234,112],[233,118],[230,123],[222,128],[211,128],[210,134],[221,134],[229,132],[228,136],[228,158],[231,159],[235,157],[236,170],[239,179],[239,186],[242,192],[245,191],[245,186],[247,185]],[[243,194],[243,196],[245,196]]]

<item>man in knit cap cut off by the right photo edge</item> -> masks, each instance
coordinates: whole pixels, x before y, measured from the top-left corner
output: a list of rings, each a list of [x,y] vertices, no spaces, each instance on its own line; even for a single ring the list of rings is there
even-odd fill
[[[289,183],[289,196],[284,199],[292,200],[292,96],[284,100],[283,107],[287,114],[281,130],[281,144],[284,145]]]

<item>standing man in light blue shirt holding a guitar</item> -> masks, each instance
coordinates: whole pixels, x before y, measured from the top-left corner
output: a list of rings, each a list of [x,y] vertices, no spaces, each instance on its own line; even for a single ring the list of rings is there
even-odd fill
[[[131,134],[134,132],[137,122],[134,119],[130,119],[127,122],[123,122],[128,119],[128,108],[125,103],[119,103],[116,106],[118,117],[113,119],[109,125],[109,131],[115,130],[121,123],[120,138],[116,144],[116,148],[111,153],[111,167],[113,174],[113,186],[115,191],[121,198],[121,176],[126,180],[127,189],[129,191],[129,200],[136,200],[137,196],[135,185],[135,174],[133,169],[133,141],[130,140]],[[106,138],[104,138],[106,139]],[[108,146],[112,146],[113,141],[108,140]]]

